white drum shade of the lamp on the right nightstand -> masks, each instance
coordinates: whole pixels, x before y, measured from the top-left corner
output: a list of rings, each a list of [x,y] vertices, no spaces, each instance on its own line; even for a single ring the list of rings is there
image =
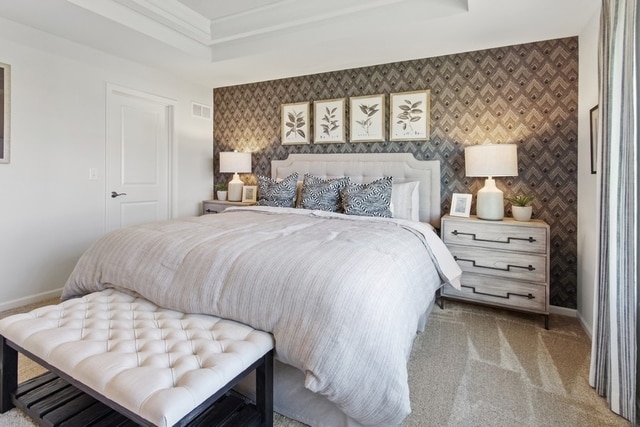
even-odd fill
[[[464,149],[467,176],[518,176],[516,144],[470,145]]]

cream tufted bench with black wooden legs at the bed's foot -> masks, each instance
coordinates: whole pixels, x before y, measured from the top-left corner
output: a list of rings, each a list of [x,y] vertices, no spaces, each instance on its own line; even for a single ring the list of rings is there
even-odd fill
[[[140,425],[212,425],[202,417],[256,370],[257,417],[273,424],[273,337],[237,322],[163,309],[109,289],[1,319],[0,335],[0,412],[18,406],[34,416],[20,401],[26,391],[17,384],[19,351],[50,369],[51,381],[71,384],[76,394]],[[76,416],[63,410],[74,392],[60,387],[66,392],[56,403],[39,403],[47,406],[35,414],[41,425],[55,425],[47,417]]]

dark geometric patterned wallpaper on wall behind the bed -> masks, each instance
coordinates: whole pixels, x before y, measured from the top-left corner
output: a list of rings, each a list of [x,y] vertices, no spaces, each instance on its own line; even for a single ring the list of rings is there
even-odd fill
[[[280,144],[281,104],[383,93],[388,112],[389,93],[424,89],[429,141]],[[234,149],[252,151],[253,173],[267,176],[271,160],[289,153],[410,152],[440,160],[444,214],[452,193],[475,195],[483,185],[464,175],[465,145],[516,143],[520,173],[497,185],[505,195],[536,196],[534,218],[551,225],[551,304],[576,308],[577,110],[577,37],[218,88],[215,179],[230,179],[217,172],[218,153]]]

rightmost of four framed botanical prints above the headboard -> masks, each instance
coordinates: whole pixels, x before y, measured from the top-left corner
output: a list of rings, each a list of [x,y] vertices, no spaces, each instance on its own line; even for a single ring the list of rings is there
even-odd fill
[[[391,141],[429,140],[431,91],[392,93],[390,98],[389,139]]]

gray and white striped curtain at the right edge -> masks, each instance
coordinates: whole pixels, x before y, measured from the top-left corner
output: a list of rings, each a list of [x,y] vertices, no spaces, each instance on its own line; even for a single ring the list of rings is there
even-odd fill
[[[589,380],[638,425],[638,5],[603,0],[599,47],[599,254]]]

